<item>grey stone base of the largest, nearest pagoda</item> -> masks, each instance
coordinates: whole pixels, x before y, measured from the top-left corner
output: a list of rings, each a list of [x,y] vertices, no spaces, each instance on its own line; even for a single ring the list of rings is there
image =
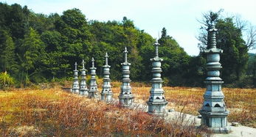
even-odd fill
[[[212,133],[229,133],[231,128],[227,125],[227,115],[229,111],[225,112],[208,112],[199,111],[201,114],[201,126],[205,125]]]

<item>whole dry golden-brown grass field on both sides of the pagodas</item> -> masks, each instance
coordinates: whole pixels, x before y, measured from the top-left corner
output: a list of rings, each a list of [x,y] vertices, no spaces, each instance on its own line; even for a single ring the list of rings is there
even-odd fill
[[[120,83],[113,82],[114,98]],[[136,103],[145,103],[151,87],[133,84]],[[136,87],[140,86],[140,87]],[[164,87],[167,109],[198,114],[205,89]],[[99,89],[100,91],[100,89]],[[229,122],[256,127],[255,89],[223,89]],[[164,122],[142,111],[121,108],[61,91],[60,88],[0,92],[0,136],[204,136],[204,129]]]

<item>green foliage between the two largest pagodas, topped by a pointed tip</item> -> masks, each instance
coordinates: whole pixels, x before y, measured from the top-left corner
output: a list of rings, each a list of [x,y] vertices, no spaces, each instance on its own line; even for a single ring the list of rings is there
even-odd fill
[[[167,35],[167,30],[162,29],[162,37],[159,39],[159,56],[162,56],[164,62],[162,63],[163,75],[170,79],[170,85],[179,86],[185,84],[187,79],[188,64],[190,56],[181,48],[173,39]]]

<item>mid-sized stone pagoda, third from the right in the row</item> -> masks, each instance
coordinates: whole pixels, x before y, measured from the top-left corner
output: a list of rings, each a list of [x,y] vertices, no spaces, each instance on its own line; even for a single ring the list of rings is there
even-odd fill
[[[125,47],[125,62],[122,64],[122,86],[119,95],[120,104],[123,106],[130,106],[134,102],[134,95],[131,93],[131,79],[130,79],[130,65],[127,60],[127,48]]]

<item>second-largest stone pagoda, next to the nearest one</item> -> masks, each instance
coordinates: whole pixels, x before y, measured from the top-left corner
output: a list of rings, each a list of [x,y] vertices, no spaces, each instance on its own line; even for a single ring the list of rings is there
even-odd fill
[[[153,78],[151,79],[152,87],[151,87],[151,96],[148,100],[148,113],[156,114],[158,116],[164,116],[165,114],[165,105],[167,105],[167,101],[165,100],[164,89],[162,89],[162,68],[161,62],[163,59],[159,58],[158,55],[158,46],[159,43],[155,42],[155,57],[151,59],[152,62],[152,70]]]

